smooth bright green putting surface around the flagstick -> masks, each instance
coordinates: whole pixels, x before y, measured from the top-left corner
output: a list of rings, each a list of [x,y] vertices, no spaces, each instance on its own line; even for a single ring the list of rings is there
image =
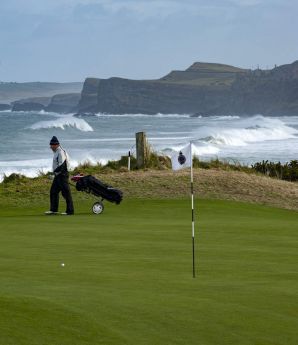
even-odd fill
[[[0,345],[297,345],[298,213],[128,199],[0,210]],[[64,263],[63,267],[61,264]]]

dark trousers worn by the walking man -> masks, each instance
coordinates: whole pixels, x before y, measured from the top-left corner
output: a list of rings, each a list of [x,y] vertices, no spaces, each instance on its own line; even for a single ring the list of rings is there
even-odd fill
[[[52,187],[50,191],[50,200],[51,200],[51,211],[53,212],[58,212],[60,192],[62,192],[62,196],[66,201],[66,213],[73,214],[74,213],[73,202],[72,202],[67,175],[55,176],[54,181],[52,183]]]

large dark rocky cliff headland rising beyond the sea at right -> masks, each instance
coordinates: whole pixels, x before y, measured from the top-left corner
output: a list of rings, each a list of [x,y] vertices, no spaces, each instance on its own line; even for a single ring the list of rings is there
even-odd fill
[[[87,78],[80,113],[298,114],[298,61],[272,70],[196,62],[161,79]]]

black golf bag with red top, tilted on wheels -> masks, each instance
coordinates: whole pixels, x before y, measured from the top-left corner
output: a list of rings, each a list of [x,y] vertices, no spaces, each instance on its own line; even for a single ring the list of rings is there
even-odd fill
[[[76,181],[76,189],[80,192],[91,193],[102,199],[106,199],[115,204],[120,204],[123,193],[119,189],[115,189],[92,175],[80,176]]]

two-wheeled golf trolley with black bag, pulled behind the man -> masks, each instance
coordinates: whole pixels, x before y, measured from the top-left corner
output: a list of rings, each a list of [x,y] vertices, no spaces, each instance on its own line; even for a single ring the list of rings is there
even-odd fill
[[[93,194],[101,198],[92,205],[94,214],[101,214],[104,211],[104,200],[113,202],[116,205],[119,205],[122,201],[123,193],[119,189],[103,183],[92,175],[84,176],[80,174],[73,176],[71,180],[76,182],[75,187],[79,192]]]

